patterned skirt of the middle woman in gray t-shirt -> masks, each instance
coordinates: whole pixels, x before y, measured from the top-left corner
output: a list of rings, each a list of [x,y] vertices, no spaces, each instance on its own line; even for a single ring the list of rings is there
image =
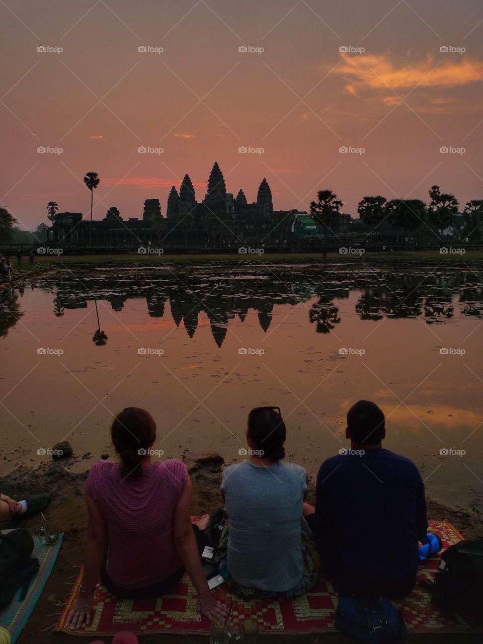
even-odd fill
[[[303,554],[303,576],[301,580],[290,588],[288,591],[276,592],[266,591],[254,586],[242,586],[236,583],[230,574],[227,562],[228,553],[228,535],[229,535],[229,522],[226,522],[223,527],[220,543],[218,544],[218,551],[216,553],[216,560],[223,579],[231,587],[231,590],[236,596],[241,599],[251,600],[265,597],[278,597],[280,599],[296,597],[307,592],[317,582],[318,571],[320,566],[319,554],[317,553],[314,537],[307,521],[302,517],[301,519],[301,547]]]

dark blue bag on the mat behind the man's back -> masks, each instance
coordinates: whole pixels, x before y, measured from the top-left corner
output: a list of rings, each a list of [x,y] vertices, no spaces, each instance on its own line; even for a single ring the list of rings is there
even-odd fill
[[[405,644],[408,635],[403,616],[386,599],[339,598],[336,627],[366,644]]]

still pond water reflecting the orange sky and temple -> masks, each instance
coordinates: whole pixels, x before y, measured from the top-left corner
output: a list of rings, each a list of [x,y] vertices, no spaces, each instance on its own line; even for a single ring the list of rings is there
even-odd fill
[[[483,510],[482,322],[482,271],[467,267],[66,271],[3,293],[0,473],[59,440],[86,469],[129,405],[153,413],[164,458],[231,462],[249,410],[276,404],[287,458],[316,475],[348,447],[348,407],[371,399],[428,495]]]

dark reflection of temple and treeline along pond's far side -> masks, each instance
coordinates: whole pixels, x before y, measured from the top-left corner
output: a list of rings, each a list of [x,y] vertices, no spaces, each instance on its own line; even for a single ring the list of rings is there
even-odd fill
[[[483,286],[476,276],[424,274],[394,274],[351,272],[304,274],[293,272],[278,279],[274,275],[236,276],[182,276],[155,281],[132,280],[129,283],[111,279],[84,279],[82,285],[61,282],[57,285],[54,314],[64,310],[87,308],[88,301],[108,301],[114,311],[120,312],[128,299],[146,299],[151,317],[164,317],[166,304],[176,327],[184,326],[192,338],[200,323],[200,316],[209,320],[213,339],[218,347],[227,335],[231,320],[244,321],[254,311],[258,323],[267,332],[272,323],[274,306],[291,307],[310,301],[308,320],[317,333],[328,334],[341,322],[339,306],[351,290],[359,296],[355,312],[363,320],[377,321],[388,318],[420,317],[427,324],[450,320],[455,310],[464,316],[483,316]],[[15,303],[10,303],[15,309]],[[13,314],[13,315],[12,315]],[[19,314],[4,316],[4,322],[15,323]],[[1,321],[1,320],[0,320]]]

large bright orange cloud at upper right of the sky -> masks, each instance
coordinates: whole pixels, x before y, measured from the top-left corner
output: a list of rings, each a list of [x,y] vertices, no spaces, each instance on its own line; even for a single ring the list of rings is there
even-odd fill
[[[343,63],[334,72],[347,81],[346,90],[357,95],[357,90],[410,90],[419,87],[456,87],[478,81],[483,75],[483,62],[455,60],[437,62],[431,57],[424,61],[395,64],[385,55],[349,55],[341,53]]]

